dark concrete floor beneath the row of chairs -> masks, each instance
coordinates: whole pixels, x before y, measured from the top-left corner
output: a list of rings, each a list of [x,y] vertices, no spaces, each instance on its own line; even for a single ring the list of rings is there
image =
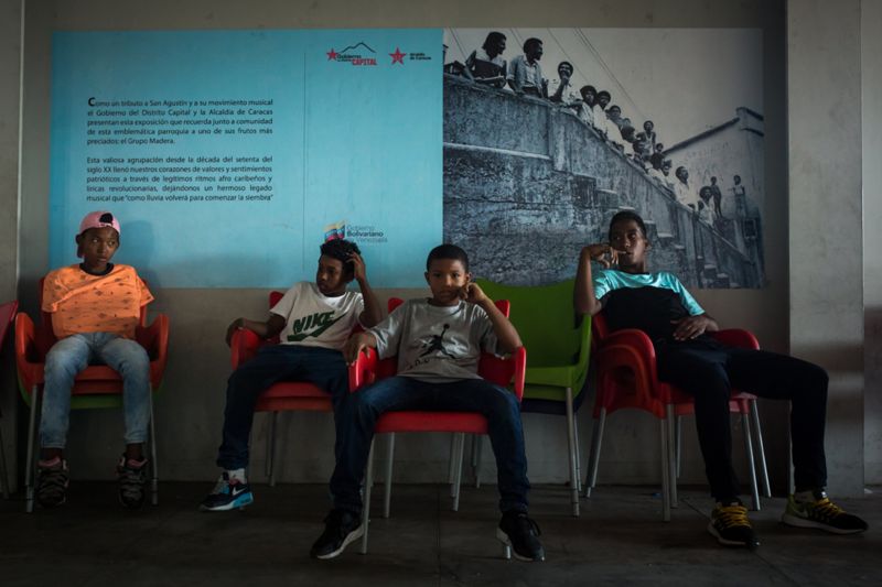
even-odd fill
[[[870,531],[833,536],[783,526],[783,499],[764,500],[751,518],[762,546],[724,548],[706,532],[711,500],[681,490],[673,521],[660,519],[650,489],[600,487],[569,515],[567,492],[540,486],[531,515],[547,562],[504,561],[494,537],[495,487],[464,488],[459,512],[447,486],[398,485],[391,518],[374,500],[367,556],[351,545],[329,562],[309,557],[327,510],[318,485],[255,486],[245,511],[201,513],[212,487],[165,482],[160,506],[122,510],[116,487],[75,482],[68,503],[24,514],[19,499],[0,501],[0,584],[125,585],[882,585],[882,493],[837,500]]]

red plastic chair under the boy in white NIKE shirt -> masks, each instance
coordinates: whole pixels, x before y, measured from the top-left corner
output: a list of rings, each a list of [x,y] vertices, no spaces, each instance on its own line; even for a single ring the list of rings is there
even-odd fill
[[[270,292],[269,307],[275,306],[284,295],[282,292]],[[251,359],[257,350],[266,345],[277,345],[279,338],[261,340],[255,333],[241,329],[233,335],[230,340],[230,362],[233,369]],[[260,394],[255,405],[255,412],[270,412],[269,433],[267,435],[267,466],[266,474],[269,485],[276,485],[276,430],[279,412],[333,412],[331,394],[320,387],[305,381],[280,381]]]

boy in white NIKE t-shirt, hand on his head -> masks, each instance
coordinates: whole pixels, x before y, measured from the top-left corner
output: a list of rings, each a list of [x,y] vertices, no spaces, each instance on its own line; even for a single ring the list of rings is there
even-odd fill
[[[217,466],[223,469],[202,511],[226,511],[254,502],[245,475],[248,438],[257,399],[279,381],[309,381],[331,394],[338,424],[340,401],[347,394],[348,371],[341,349],[352,329],[377,324],[383,314],[367,282],[358,246],[331,240],[321,246],[315,282],[295,283],[269,311],[266,322],[236,318],[227,328],[227,344],[241,328],[260,338],[281,334],[281,344],[261,347],[239,366],[227,383],[223,442]],[[346,290],[353,280],[361,293]]]

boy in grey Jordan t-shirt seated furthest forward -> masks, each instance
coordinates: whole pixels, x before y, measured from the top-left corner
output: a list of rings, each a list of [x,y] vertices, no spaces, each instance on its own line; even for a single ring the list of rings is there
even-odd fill
[[[361,485],[377,418],[396,410],[437,410],[480,412],[487,418],[503,511],[496,536],[517,558],[542,561],[539,529],[527,518],[529,481],[517,399],[477,374],[482,350],[514,351],[521,346],[520,337],[481,287],[471,283],[469,258],[461,248],[435,247],[426,270],[431,297],[406,302],[346,343],[347,362],[375,348],[381,359],[398,357],[398,373],[344,401],[331,478],[334,509],[310,554],[333,558],[364,534]]]

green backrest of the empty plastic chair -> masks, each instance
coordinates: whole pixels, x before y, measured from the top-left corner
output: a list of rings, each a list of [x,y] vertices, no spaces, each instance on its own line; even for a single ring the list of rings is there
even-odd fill
[[[587,360],[583,348],[584,326],[577,322],[572,306],[574,280],[551,285],[504,285],[478,280],[492,298],[506,298],[512,304],[512,324],[529,352],[530,367],[557,367]],[[590,324],[590,319],[589,319]],[[579,360],[577,360],[579,359]]]

